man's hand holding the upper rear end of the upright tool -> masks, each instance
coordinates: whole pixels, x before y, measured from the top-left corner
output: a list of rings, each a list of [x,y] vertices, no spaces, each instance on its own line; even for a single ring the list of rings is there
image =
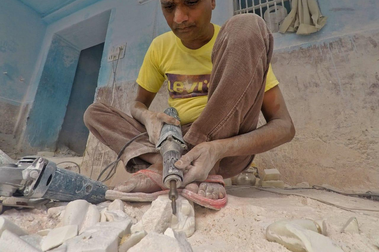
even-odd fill
[[[160,137],[160,131],[164,123],[179,126],[180,122],[163,112],[151,112],[143,120],[149,134],[149,141],[156,144]]]

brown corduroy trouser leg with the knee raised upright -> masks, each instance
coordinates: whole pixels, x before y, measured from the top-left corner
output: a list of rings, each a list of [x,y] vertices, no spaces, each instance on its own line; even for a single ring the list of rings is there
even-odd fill
[[[223,25],[212,52],[208,102],[184,137],[189,144],[225,139],[257,128],[272,48],[272,34],[258,15],[236,15]],[[216,173],[225,178],[234,176],[253,158],[223,158]]]

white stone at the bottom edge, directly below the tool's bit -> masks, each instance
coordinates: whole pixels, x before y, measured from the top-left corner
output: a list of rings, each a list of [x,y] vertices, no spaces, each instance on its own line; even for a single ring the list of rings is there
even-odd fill
[[[192,252],[189,244],[183,245],[175,238],[150,232],[128,252]]]

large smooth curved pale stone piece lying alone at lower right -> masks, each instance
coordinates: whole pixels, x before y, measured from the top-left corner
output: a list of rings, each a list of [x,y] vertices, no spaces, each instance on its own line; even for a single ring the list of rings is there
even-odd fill
[[[266,238],[293,252],[343,252],[328,237],[288,221],[276,221],[266,229]]]

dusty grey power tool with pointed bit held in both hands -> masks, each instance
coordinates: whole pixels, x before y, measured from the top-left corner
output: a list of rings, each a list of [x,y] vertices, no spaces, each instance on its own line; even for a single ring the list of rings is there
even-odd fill
[[[164,111],[165,114],[174,117],[178,121],[178,111],[169,107]],[[163,124],[160,131],[160,138],[156,144],[156,150],[163,157],[163,184],[170,189],[168,197],[172,200],[171,207],[173,214],[176,214],[176,199],[178,198],[178,188],[183,182],[183,171],[176,168],[174,163],[178,161],[187,149],[186,142],[183,139],[182,127]]]

